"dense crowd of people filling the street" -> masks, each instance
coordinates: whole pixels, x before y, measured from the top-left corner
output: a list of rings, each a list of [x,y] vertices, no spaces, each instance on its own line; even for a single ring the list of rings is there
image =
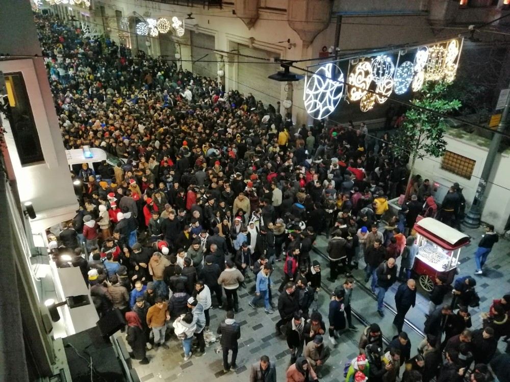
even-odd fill
[[[415,177],[409,201],[397,216],[385,216],[388,225],[379,230],[388,199],[405,194],[408,175],[407,158],[393,155],[389,135],[376,140],[363,123],[294,126],[272,105],[225,91],[217,79],[173,61],[143,51],[133,55],[108,38],[85,38],[53,17],[36,16],[36,23],[66,149],[88,145],[122,160],[114,168],[101,162],[74,169],[80,209],[48,236],[50,248],[59,266],[80,267],[99,316],[112,309],[124,314],[134,358],[148,363],[147,349],[167,349],[167,331],[182,341],[186,361],[201,356],[214,336],[209,311],[224,308],[216,331],[223,369],[236,369],[237,292],[252,281],[248,305],[257,309],[263,302],[266,314],[277,309],[281,316],[276,332],[285,334],[291,349],[287,380],[317,380],[330,354],[326,328],[332,346],[343,331],[358,331],[348,275],[364,259],[365,282],[372,279],[381,317],[386,291],[397,279],[403,282],[395,297],[399,335],[383,351],[379,326],[365,328],[347,382],[394,382],[404,363],[409,367],[402,379],[409,382],[436,376],[451,382],[468,369],[472,382],[488,380],[495,339],[506,333],[504,322],[495,325],[506,322],[510,296],[494,303],[485,329],[468,332],[465,308],[453,314],[443,306],[445,280],[436,280],[427,338],[410,357],[402,325],[415,305],[417,250],[407,235],[418,215],[435,217],[438,207],[429,180]],[[443,222],[458,224],[461,197],[462,189],[452,186]],[[321,234],[328,239],[328,279],[347,275],[331,296],[327,326],[312,309],[321,267],[311,251]],[[70,264],[60,256],[69,250]],[[480,260],[488,252],[480,250]],[[398,273],[395,260],[404,253]],[[274,305],[271,274],[279,266],[284,279]],[[459,315],[442,346],[441,328]],[[274,360],[263,356],[252,365],[250,381],[275,380]]]

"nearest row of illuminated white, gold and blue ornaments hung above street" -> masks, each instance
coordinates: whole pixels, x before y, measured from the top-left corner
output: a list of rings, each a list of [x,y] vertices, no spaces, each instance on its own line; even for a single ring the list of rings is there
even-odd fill
[[[405,96],[410,91],[421,91],[425,81],[444,80],[451,83],[455,79],[460,62],[462,44],[463,40],[456,38],[429,45],[392,49],[372,57],[338,60],[345,63],[342,65],[349,63],[345,85],[348,101],[359,101],[361,111],[368,112],[376,104],[385,103],[392,94]],[[393,60],[397,55],[396,63],[398,64],[395,64]],[[331,72],[334,65],[338,65],[337,68],[340,67],[337,63],[308,67],[313,68],[312,73],[315,77],[310,77],[305,83],[303,96],[307,111],[313,118],[320,119],[328,116],[342,101],[342,97],[339,96],[340,86],[337,83],[340,83],[343,77],[333,79],[329,76],[328,82],[327,76],[324,79],[324,75],[321,75],[321,73]],[[320,69],[316,70],[318,67]],[[342,75],[340,69],[336,71],[338,72]],[[344,88],[342,87],[341,90],[345,90]]]

